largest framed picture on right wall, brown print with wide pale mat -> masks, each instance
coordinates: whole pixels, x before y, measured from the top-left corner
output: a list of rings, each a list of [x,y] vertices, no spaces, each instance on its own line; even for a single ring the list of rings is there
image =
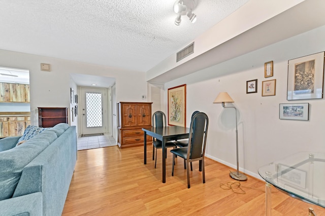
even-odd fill
[[[324,52],[288,60],[287,100],[323,98]]]

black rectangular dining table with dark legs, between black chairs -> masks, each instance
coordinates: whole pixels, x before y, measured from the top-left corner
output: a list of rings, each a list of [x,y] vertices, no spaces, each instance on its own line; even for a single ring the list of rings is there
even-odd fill
[[[144,164],[147,164],[147,135],[152,136],[162,142],[163,153],[163,183],[166,183],[166,142],[171,140],[188,138],[189,128],[182,126],[166,126],[166,127],[146,127],[144,131]]]

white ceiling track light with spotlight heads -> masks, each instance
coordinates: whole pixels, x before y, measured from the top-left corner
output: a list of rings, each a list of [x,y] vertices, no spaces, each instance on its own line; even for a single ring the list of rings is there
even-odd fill
[[[197,15],[192,13],[192,10],[196,7],[194,0],[177,0],[174,3],[174,12],[177,14],[175,19],[175,25],[181,24],[181,16],[187,16],[188,19],[194,23],[197,21]]]

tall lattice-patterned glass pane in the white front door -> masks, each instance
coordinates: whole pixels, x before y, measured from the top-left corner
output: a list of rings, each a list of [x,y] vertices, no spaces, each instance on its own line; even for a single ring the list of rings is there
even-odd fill
[[[102,94],[86,93],[87,127],[102,127]]]

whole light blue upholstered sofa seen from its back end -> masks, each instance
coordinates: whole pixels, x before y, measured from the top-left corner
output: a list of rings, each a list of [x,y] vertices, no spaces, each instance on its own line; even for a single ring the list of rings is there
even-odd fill
[[[0,215],[61,215],[77,161],[76,126],[60,123],[16,146],[0,139]]]

